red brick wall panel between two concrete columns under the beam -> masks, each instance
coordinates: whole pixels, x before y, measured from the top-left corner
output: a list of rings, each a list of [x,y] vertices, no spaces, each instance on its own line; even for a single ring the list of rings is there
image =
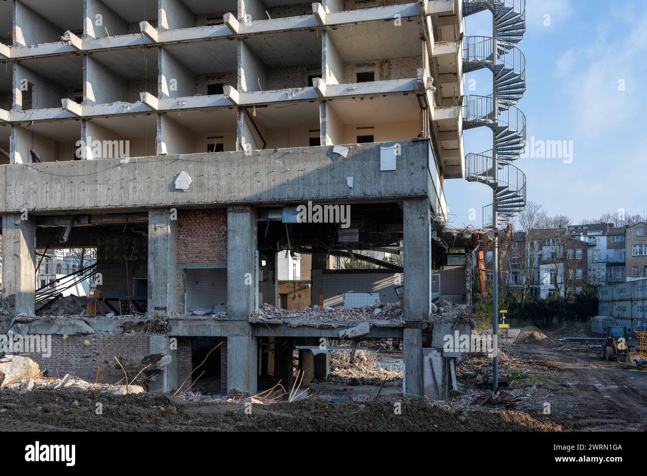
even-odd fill
[[[178,210],[177,264],[227,261],[227,210]],[[177,273],[177,310],[184,310],[184,271]]]

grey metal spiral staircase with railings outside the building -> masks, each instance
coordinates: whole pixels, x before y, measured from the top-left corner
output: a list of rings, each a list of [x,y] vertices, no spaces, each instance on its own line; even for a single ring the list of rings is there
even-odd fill
[[[468,36],[463,41],[464,71],[487,68],[493,76],[492,95],[465,98],[463,128],[485,126],[493,132],[492,149],[468,153],[465,164],[468,181],[494,190],[493,203],[483,207],[483,227],[499,229],[526,204],[525,174],[512,165],[526,142],[525,116],[515,106],[526,89],[525,56],[516,45],[525,32],[525,0],[463,0],[463,10],[466,16],[483,10],[493,14],[494,38]]]

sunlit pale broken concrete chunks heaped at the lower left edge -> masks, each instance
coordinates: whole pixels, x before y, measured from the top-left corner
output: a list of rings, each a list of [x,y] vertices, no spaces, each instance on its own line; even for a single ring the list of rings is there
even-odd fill
[[[89,383],[81,378],[65,374],[63,378],[43,377],[38,364],[29,357],[0,357],[0,389],[17,392],[32,390],[52,391],[99,391],[113,395],[142,393],[140,385],[112,385],[107,383]]]

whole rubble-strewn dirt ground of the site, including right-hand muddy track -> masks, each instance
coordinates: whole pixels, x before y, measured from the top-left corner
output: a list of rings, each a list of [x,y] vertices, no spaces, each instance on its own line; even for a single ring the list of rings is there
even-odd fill
[[[588,343],[503,343],[499,368],[505,398],[482,405],[491,372],[485,354],[462,359],[459,392],[448,402],[403,400],[399,356],[393,352],[384,359],[386,371],[371,370],[375,356],[358,368],[337,357],[340,367],[333,359],[333,374],[309,385],[315,394],[291,403],[5,389],[0,431],[645,431],[647,372],[599,355]]]

